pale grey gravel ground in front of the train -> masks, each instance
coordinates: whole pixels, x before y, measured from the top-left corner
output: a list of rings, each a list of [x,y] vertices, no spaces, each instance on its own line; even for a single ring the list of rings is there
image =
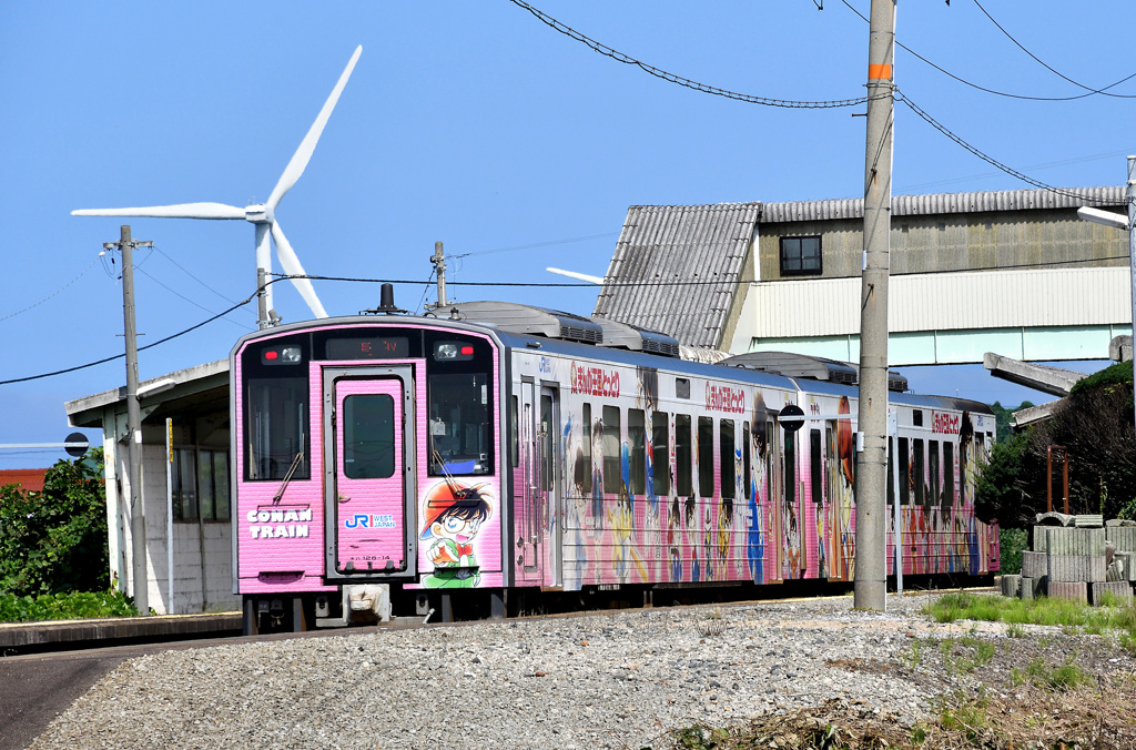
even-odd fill
[[[640,748],[694,723],[829,699],[914,726],[975,677],[920,664],[913,643],[1008,640],[995,624],[935,624],[919,614],[928,601],[620,610],[170,650],[118,666],[32,747]],[[1045,648],[1068,649],[1045,630]]]

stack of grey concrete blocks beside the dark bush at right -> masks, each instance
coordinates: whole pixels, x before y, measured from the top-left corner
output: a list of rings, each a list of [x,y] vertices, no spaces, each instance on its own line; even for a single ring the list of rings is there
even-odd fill
[[[1128,523],[1110,520],[1105,525],[1095,515],[1038,514],[1034,549],[1021,553],[1020,577],[1002,577],[1002,593],[1094,605],[1105,593],[1130,599],[1136,581],[1136,524],[1122,525]]]

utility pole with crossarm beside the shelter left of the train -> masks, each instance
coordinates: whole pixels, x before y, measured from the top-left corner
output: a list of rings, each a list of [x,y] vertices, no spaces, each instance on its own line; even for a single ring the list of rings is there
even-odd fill
[[[123,331],[126,336],[126,455],[131,484],[131,576],[134,606],[145,617],[150,614],[150,576],[145,560],[145,511],[142,508],[142,416],[139,409],[139,348],[134,330],[134,248],[152,248],[153,242],[134,242],[131,227],[124,224],[118,242],[106,242],[108,250],[123,253]]]

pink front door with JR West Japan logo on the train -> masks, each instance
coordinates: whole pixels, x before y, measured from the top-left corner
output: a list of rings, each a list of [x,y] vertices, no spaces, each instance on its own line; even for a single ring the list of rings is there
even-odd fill
[[[412,576],[411,369],[325,369],[324,406],[328,577]]]

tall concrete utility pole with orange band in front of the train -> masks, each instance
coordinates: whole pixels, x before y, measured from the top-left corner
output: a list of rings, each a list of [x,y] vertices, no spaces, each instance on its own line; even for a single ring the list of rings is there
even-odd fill
[[[859,436],[862,442],[858,445],[855,469],[853,603],[858,609],[878,610],[887,607],[887,274],[891,266],[895,3],[896,0],[871,0],[860,291]]]

